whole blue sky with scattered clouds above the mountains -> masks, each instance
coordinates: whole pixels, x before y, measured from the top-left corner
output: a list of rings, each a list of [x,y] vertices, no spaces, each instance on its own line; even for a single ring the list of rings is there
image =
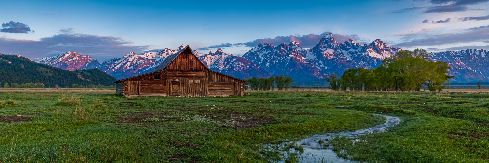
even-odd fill
[[[243,55],[259,43],[337,41],[428,51],[489,49],[489,0],[4,1],[0,53],[99,61],[181,44]],[[425,23],[422,23],[425,22]],[[28,26],[28,28],[27,28]],[[267,39],[268,38],[268,39]]]

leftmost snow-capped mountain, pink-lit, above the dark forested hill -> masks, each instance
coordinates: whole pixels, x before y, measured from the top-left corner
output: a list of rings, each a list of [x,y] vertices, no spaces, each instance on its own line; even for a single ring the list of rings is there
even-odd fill
[[[100,63],[96,59],[71,51],[52,57],[44,57],[36,62],[64,70],[86,70],[100,67]]]

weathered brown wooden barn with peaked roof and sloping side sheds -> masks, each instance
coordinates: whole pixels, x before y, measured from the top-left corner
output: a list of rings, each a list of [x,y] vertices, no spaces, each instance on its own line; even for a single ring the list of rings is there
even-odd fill
[[[121,79],[117,94],[131,96],[244,95],[244,80],[209,70],[187,46],[150,73]]]

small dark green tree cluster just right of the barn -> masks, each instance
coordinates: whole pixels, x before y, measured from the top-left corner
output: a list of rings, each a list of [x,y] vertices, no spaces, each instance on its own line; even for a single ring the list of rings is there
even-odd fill
[[[286,77],[285,75],[270,76],[268,78],[252,77],[246,78],[244,81],[249,85],[249,89],[261,91],[274,90],[275,88],[279,91],[288,90],[290,83],[294,82],[292,77]]]

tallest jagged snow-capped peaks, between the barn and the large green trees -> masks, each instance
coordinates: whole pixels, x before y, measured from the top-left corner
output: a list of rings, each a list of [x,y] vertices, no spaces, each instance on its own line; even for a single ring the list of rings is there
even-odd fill
[[[286,74],[295,81],[316,81],[324,79],[327,74],[342,74],[351,68],[376,68],[384,58],[400,50],[387,46],[380,39],[370,45],[359,45],[351,39],[338,43],[330,33],[307,50],[295,41],[277,47],[259,44],[246,52],[243,58],[260,65],[272,75]]]

